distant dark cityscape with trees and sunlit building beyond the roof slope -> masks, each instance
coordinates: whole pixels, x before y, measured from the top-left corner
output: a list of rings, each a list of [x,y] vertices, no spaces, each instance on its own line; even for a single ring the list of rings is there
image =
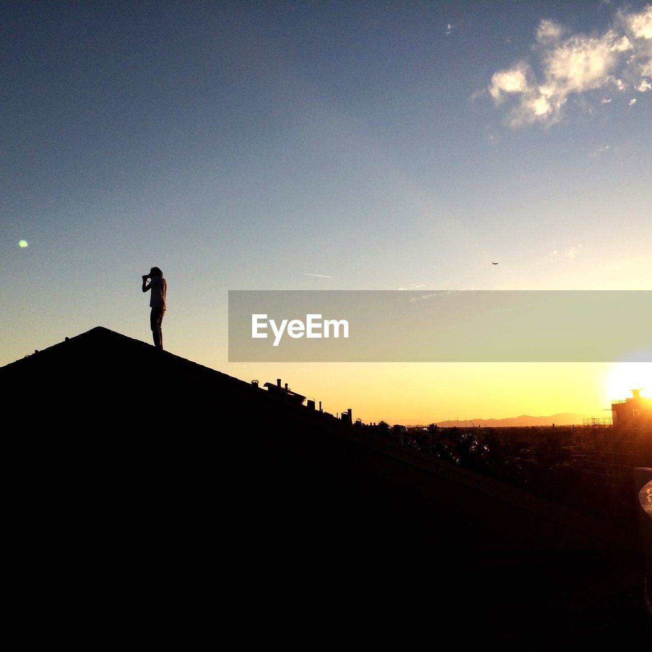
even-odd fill
[[[252,381],[258,386],[258,381]],[[598,516],[618,494],[629,496],[636,467],[652,466],[652,399],[632,396],[612,400],[609,417],[559,413],[549,417],[522,415],[511,419],[448,419],[406,426],[385,421],[364,424],[347,408],[335,415],[324,412],[321,402],[292,391],[288,383],[265,383],[267,391],[326,417],[364,430],[380,432],[411,449],[417,449],[469,470],[556,499]],[[572,489],[571,489],[572,485]],[[609,488],[597,510],[587,507],[595,486]],[[619,498],[616,498],[618,501]],[[617,510],[616,510],[617,511]],[[619,512],[623,514],[625,512]]]

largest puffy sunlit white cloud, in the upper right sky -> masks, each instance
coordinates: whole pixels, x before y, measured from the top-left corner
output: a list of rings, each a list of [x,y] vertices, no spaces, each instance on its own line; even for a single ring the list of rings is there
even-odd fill
[[[497,70],[486,89],[496,106],[511,100],[509,124],[556,123],[569,96],[595,89],[625,91],[627,82],[641,92],[652,89],[645,79],[652,76],[652,5],[638,14],[618,12],[614,25],[598,36],[569,35],[562,25],[542,20],[535,34],[537,61]]]

